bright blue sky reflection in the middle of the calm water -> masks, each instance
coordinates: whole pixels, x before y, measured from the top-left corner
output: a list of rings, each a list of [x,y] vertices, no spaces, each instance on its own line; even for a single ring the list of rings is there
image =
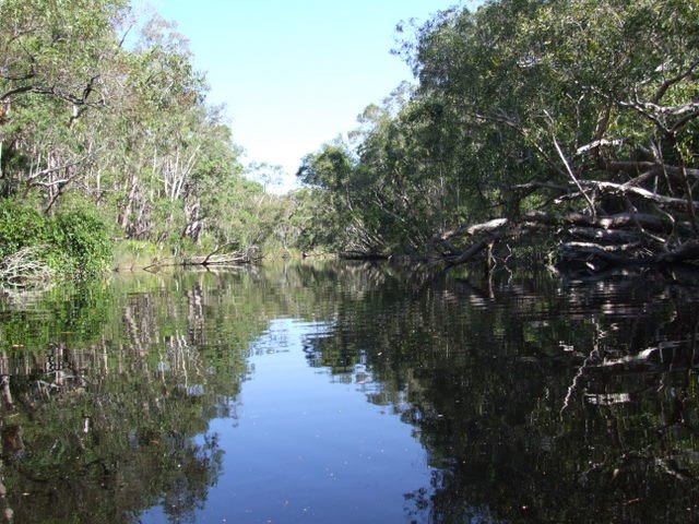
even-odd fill
[[[352,382],[309,367],[303,341],[330,329],[272,322],[252,344],[238,419],[214,419],[223,473],[197,522],[404,522],[404,495],[428,487],[412,428]],[[143,523],[166,522],[161,510]]]

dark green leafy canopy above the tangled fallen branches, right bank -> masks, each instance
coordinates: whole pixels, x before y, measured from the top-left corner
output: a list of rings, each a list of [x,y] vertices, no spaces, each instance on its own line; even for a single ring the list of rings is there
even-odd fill
[[[419,85],[369,106],[353,146],[323,146],[299,178],[329,193],[345,246],[415,252],[464,222],[578,205],[523,191],[528,182],[565,188],[572,171],[626,183],[644,169],[619,160],[696,168],[698,12],[697,0],[501,0],[440,12],[399,51]],[[692,198],[656,171],[645,189]]]

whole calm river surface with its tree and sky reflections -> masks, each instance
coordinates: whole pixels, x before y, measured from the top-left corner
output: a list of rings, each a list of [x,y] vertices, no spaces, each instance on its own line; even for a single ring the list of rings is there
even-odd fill
[[[699,520],[699,288],[374,264],[0,299],[12,522]]]

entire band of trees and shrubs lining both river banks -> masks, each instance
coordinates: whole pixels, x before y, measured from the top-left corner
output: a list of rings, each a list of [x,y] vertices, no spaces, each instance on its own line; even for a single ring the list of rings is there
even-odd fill
[[[399,24],[416,85],[265,191],[187,38],[128,0],[0,4],[0,282],[266,253],[439,267],[699,261],[699,0],[500,0]]]

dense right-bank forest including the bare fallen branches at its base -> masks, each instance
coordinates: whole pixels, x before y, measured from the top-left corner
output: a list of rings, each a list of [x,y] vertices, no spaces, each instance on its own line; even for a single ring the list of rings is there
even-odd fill
[[[502,0],[399,31],[418,85],[299,170],[337,249],[699,257],[699,2]]]

